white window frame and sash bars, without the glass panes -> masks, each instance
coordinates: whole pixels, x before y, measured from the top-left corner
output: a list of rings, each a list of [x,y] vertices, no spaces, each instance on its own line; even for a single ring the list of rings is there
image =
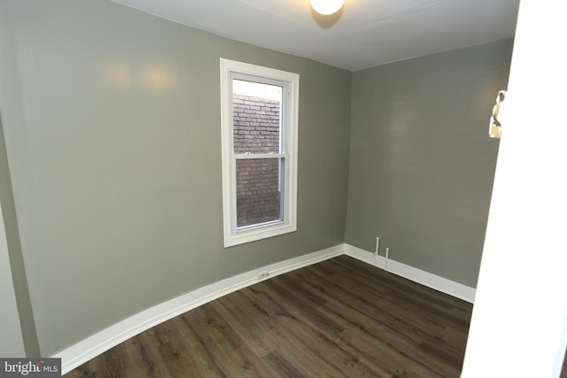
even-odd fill
[[[297,230],[297,172],[299,125],[299,74],[220,59],[222,220],[224,247],[266,239]],[[236,155],[233,148],[232,79],[281,85],[281,153],[270,158],[284,159],[282,220],[237,228]],[[251,155],[260,157],[263,155]],[[243,158],[240,156],[239,158]]]

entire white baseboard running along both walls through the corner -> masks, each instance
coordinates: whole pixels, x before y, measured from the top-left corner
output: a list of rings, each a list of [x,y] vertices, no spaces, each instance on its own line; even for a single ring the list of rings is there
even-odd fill
[[[67,374],[74,368],[81,366],[90,359],[94,359],[99,354],[110,350],[119,343],[128,340],[130,337],[136,336],[166,320],[175,318],[175,316],[181,315],[183,312],[188,312],[199,305],[205,305],[216,298],[225,296],[238,289],[243,289],[254,283],[268,280],[276,275],[291,272],[292,270],[310,266],[343,254],[357,258],[370,265],[381,267],[382,269],[386,268],[386,259],[384,257],[361,250],[350,244],[339,244],[322,251],[316,251],[299,256],[298,258],[291,258],[276,264],[263,266],[250,272],[237,274],[203,288],[190,291],[187,294],[155,305],[143,312],[138,312],[128,319],[121,320],[113,326],[105,328],[97,334],[89,336],[63,351],[58,351],[50,357],[60,358],[62,374]],[[408,266],[389,259],[386,270],[432,289],[437,289],[451,296],[461,298],[467,302],[472,303],[474,301],[475,289],[416,269],[413,266]],[[268,276],[258,278],[260,273],[266,272],[268,272]]]

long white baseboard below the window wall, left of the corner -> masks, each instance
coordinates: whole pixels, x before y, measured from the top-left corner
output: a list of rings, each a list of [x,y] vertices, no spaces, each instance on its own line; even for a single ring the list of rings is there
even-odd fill
[[[128,340],[130,337],[136,336],[166,320],[175,318],[175,316],[181,315],[183,312],[188,312],[199,305],[204,305],[216,298],[225,296],[238,289],[243,289],[254,283],[268,280],[276,275],[291,272],[304,266],[310,266],[329,258],[335,258],[344,253],[344,244],[339,244],[322,251],[263,266],[244,274],[238,274],[225,280],[214,282],[160,305],[155,305],[143,312],[138,312],[128,319],[121,320],[63,351],[58,351],[50,357],[61,359],[62,374],[66,374],[119,343]],[[259,279],[258,274],[265,272],[268,272],[268,276]]]

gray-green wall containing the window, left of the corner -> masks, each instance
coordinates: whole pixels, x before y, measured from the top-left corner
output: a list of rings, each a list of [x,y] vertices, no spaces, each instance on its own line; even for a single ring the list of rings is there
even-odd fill
[[[7,0],[0,13],[0,110],[42,355],[343,243],[351,73],[109,1]],[[298,231],[229,249],[221,57],[300,74]]]

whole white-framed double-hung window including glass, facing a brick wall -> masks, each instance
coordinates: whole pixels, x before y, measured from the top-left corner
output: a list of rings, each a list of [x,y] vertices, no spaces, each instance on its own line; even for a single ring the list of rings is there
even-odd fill
[[[224,246],[297,229],[299,74],[221,58]]]

